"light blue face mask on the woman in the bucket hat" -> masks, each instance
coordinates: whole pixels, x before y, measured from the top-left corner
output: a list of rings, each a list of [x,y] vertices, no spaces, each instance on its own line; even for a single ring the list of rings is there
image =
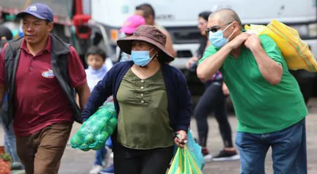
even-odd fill
[[[153,50],[152,48],[150,51],[131,51],[131,59],[133,60],[134,64],[144,67],[148,65],[151,60],[155,57],[156,54],[154,54],[152,57],[150,57],[150,52]]]

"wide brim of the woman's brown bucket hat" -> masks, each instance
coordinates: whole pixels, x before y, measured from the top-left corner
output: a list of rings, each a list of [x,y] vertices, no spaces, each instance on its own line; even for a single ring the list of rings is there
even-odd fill
[[[155,46],[157,46],[162,52],[160,53],[159,56],[162,56],[162,58],[164,59],[165,62],[171,62],[174,60],[174,57],[166,50],[165,46],[159,44],[158,42],[145,37],[145,36],[130,36],[130,37],[126,37],[123,39],[120,39],[117,41],[117,45],[119,46],[119,48],[127,53],[127,54],[131,54],[131,46],[132,46],[132,41],[144,41],[150,44],[153,44]]]

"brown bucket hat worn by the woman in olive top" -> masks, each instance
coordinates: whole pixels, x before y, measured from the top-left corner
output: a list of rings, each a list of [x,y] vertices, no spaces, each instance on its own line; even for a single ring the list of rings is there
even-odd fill
[[[174,57],[165,48],[166,35],[154,26],[141,25],[132,36],[118,40],[117,44],[123,52],[131,54],[132,41],[145,41],[153,44],[161,50],[159,56],[165,62],[171,62],[174,60]]]

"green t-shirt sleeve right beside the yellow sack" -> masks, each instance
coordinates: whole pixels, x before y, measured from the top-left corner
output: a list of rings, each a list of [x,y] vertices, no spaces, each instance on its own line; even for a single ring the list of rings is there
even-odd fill
[[[266,55],[278,64],[285,65],[284,57],[275,42],[267,35],[260,35],[259,38]]]

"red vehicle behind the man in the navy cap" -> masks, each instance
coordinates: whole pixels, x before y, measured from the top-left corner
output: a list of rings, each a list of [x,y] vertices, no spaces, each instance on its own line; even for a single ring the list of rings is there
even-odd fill
[[[86,65],[84,55],[91,37],[90,0],[0,0],[0,23],[10,21],[19,26],[15,15],[33,3],[45,3],[53,9],[53,34],[74,45]]]

